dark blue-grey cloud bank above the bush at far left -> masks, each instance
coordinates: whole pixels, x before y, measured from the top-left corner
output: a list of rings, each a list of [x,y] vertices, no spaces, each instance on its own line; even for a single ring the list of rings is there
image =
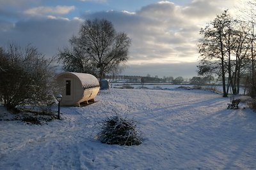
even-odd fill
[[[2,22],[0,22],[2,23]],[[58,49],[68,46],[68,39],[76,34],[81,22],[79,20],[31,19],[19,21],[6,31],[0,31],[0,46],[15,43],[20,46],[31,44],[46,57],[56,55]],[[0,24],[1,25],[1,24]]]

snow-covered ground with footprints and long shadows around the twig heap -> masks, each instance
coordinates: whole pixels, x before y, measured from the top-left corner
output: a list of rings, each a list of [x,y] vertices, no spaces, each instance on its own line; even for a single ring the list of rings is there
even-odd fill
[[[102,90],[96,101],[43,125],[0,121],[0,169],[256,169],[256,113],[244,103],[227,110],[229,98],[184,89]],[[116,113],[137,122],[141,145],[95,139]]]

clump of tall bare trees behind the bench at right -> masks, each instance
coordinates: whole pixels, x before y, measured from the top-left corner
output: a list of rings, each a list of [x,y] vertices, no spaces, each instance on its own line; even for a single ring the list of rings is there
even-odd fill
[[[227,11],[217,18],[220,19],[220,22],[216,23],[216,20],[214,22],[221,28],[220,32],[218,29],[215,30],[218,34],[211,32],[212,30],[214,32],[215,26],[210,29],[208,26],[201,32],[204,34],[204,38],[200,39],[198,45],[202,57],[200,66],[198,66],[198,74],[214,73],[220,76],[223,80],[223,96],[225,96],[225,76],[227,74],[226,95],[229,89],[232,90],[232,94],[239,94],[241,75],[248,71],[248,67],[254,66],[254,59],[250,57],[253,56],[253,38],[251,28],[248,26],[250,24],[234,20],[227,14]],[[213,25],[214,22],[211,24]],[[218,35],[217,38],[214,38],[216,35]],[[250,64],[251,66],[248,66]]]

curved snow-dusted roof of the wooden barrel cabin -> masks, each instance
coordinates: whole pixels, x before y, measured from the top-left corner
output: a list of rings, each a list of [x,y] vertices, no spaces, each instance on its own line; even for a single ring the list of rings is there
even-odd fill
[[[91,86],[91,85],[99,85],[98,79],[95,76],[93,76],[92,74],[64,72],[64,73],[58,74],[58,76],[61,76],[63,74],[71,74],[71,75],[76,76],[81,81],[83,87],[88,87],[88,86]]]

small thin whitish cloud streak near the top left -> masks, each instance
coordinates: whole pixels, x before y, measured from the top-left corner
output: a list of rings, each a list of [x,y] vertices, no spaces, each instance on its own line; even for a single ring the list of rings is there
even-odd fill
[[[31,8],[29,10],[24,11],[25,14],[38,16],[38,15],[65,15],[70,11],[75,10],[75,6],[39,6],[36,8]]]

